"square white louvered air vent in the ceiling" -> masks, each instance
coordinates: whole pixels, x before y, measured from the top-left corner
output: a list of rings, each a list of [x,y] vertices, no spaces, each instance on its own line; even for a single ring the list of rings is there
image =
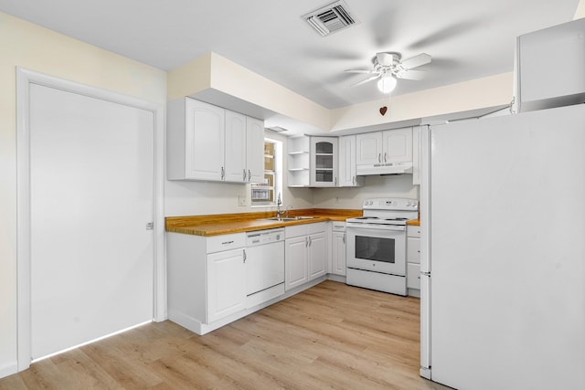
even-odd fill
[[[343,1],[324,5],[302,17],[322,37],[359,23]]]

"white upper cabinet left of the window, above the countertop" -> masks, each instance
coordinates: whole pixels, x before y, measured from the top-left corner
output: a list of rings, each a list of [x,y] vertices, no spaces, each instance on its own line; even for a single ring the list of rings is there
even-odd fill
[[[261,182],[262,121],[190,98],[167,107],[167,178]]]

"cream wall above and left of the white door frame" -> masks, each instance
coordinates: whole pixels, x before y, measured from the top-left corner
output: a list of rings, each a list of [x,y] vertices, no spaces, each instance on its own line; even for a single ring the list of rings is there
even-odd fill
[[[166,74],[0,13],[0,377],[16,367],[16,67],[166,101]]]

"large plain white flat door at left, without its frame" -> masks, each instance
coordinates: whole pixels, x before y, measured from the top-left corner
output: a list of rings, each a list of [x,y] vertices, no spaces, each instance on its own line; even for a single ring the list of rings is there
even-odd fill
[[[151,321],[154,118],[30,86],[33,359]]]

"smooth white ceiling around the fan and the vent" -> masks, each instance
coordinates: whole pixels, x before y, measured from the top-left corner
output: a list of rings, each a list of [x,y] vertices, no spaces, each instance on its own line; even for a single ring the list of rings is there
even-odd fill
[[[579,0],[345,0],[360,23],[320,37],[301,16],[330,2],[0,0],[0,11],[159,69],[213,51],[331,109],[382,98],[344,72],[378,51],[432,57],[394,95],[512,71],[516,37],[568,22]]]

